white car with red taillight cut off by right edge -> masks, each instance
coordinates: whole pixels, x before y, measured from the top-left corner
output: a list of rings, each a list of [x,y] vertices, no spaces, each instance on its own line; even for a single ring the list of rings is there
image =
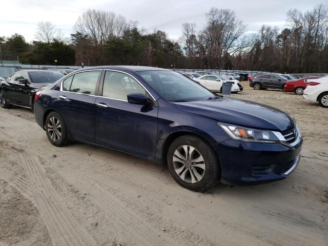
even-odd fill
[[[328,76],[307,79],[303,97],[308,101],[318,102],[323,108],[328,108]]]

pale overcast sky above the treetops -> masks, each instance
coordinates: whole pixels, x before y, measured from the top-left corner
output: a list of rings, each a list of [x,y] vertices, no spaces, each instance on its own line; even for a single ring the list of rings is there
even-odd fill
[[[127,20],[137,20],[139,28],[152,32],[159,29],[170,38],[181,35],[181,24],[194,22],[197,29],[206,23],[205,13],[211,7],[229,8],[247,25],[248,32],[256,32],[261,25],[285,27],[286,12],[291,8],[312,9],[325,1],[317,0],[2,0],[0,36],[22,34],[30,42],[35,39],[37,23],[50,21],[65,36],[73,33],[76,19],[89,8],[113,11]]]

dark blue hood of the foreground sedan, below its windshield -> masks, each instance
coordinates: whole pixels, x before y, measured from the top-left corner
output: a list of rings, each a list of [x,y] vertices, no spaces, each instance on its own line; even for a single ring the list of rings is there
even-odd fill
[[[175,103],[183,111],[233,125],[285,131],[295,127],[294,119],[270,106],[252,101],[222,97],[206,101]]]

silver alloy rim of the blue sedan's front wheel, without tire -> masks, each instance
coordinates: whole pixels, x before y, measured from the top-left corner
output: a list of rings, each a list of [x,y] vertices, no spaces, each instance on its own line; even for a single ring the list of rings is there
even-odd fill
[[[197,183],[205,174],[206,166],[202,155],[189,145],[177,148],[173,154],[173,168],[185,182]]]

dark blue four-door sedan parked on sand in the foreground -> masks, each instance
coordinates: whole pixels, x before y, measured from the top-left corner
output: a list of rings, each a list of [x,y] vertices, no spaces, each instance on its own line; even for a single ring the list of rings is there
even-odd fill
[[[37,92],[34,114],[55,146],[74,140],[153,159],[194,191],[283,179],[303,141],[278,109],[150,67],[75,71]]]

